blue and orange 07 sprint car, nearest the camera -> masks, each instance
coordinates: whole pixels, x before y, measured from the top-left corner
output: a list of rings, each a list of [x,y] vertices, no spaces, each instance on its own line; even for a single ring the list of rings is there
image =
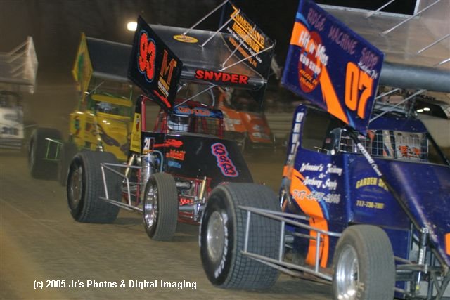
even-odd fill
[[[281,270],[331,282],[333,299],[448,299],[450,162],[411,106],[383,99],[448,93],[449,72],[383,62],[312,1],[300,2],[294,28],[283,84],[315,106],[295,110],[278,201],[251,183],[212,190],[200,226],[207,278],[263,289]],[[328,28],[348,34],[356,55]]]

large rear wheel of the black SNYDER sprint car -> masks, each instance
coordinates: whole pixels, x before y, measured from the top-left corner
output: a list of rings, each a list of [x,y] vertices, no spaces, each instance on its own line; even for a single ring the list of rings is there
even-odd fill
[[[73,157],[66,187],[70,214],[83,223],[113,223],[119,207],[101,200],[105,196],[101,162],[117,164],[110,152],[84,151]],[[105,171],[108,196],[120,200],[120,176]]]

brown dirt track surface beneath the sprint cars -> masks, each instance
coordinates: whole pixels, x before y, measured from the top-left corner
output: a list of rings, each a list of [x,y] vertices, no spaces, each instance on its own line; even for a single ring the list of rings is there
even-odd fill
[[[250,163],[256,181],[278,184],[282,166],[271,164]],[[262,175],[271,173],[273,178]],[[47,280],[65,280],[66,286],[47,288]],[[72,280],[84,287],[69,287]],[[86,287],[88,280],[117,287]],[[127,287],[120,287],[122,280]],[[157,280],[158,287],[129,287],[130,280],[135,285]],[[196,286],[162,288],[161,280]],[[44,288],[34,289],[35,282]],[[330,299],[330,286],[281,275],[266,292],[213,287],[201,266],[197,226],[180,224],[173,242],[155,242],[147,237],[141,216],[128,211],[113,224],[77,223],[69,214],[65,188],[33,179],[25,157],[0,150],[0,299],[152,298]]]

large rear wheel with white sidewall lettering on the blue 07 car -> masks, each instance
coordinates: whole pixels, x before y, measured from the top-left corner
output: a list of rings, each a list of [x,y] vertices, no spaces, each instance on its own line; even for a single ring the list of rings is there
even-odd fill
[[[267,289],[278,270],[244,256],[247,212],[238,206],[280,211],[272,190],[253,183],[227,183],[214,188],[200,225],[200,256],[213,285],[231,289]],[[281,223],[252,214],[248,252],[278,259]]]

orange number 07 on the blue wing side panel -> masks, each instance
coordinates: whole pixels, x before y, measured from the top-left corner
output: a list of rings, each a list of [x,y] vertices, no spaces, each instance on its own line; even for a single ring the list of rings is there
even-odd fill
[[[358,110],[361,119],[366,117],[367,100],[372,96],[373,79],[358,65],[347,63],[345,74],[345,105],[350,110]]]

